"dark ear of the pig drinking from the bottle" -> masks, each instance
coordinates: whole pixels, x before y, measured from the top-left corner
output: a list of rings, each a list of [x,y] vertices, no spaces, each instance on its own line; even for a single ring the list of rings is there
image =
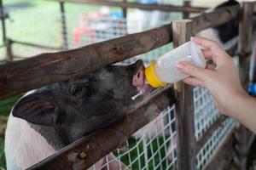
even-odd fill
[[[18,101],[12,114],[33,124],[53,126],[57,120],[57,111],[53,101],[49,92],[29,94]]]

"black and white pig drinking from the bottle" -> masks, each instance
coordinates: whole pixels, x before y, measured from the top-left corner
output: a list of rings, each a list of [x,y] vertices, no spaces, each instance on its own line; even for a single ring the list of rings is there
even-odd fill
[[[143,61],[137,60],[133,65],[109,65],[27,93],[9,116],[5,136],[8,170],[30,167],[84,135],[118,122],[135,105],[131,97],[145,87]],[[96,167],[103,162],[98,161]],[[110,169],[118,165],[113,161]]]

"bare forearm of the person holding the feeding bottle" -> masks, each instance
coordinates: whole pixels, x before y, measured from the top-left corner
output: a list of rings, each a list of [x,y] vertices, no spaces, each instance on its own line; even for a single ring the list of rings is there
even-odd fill
[[[234,106],[228,115],[241,122],[256,133],[256,99],[249,95],[242,95],[235,99]]]

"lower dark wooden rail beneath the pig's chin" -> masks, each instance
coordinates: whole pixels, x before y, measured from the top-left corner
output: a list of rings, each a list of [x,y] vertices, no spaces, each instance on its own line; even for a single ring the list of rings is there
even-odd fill
[[[145,99],[137,110],[128,113],[120,122],[77,140],[44,161],[30,167],[29,170],[87,169],[102,156],[108,155],[118,146],[125,144],[131,134],[153,121],[160,111],[173,104],[172,99],[171,86],[160,88],[148,99]],[[83,158],[80,156],[81,153],[84,155]]]

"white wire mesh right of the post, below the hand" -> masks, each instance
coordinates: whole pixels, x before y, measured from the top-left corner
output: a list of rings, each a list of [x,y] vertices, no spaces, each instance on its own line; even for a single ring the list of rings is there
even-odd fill
[[[218,120],[220,113],[214,105],[212,96],[204,88],[194,88],[194,106],[195,139],[199,140],[207,129]],[[222,144],[235,126],[236,122],[228,118],[212,133],[211,138],[207,140],[196,156],[196,169],[202,169],[207,164],[207,161],[218,150],[218,146]]]

